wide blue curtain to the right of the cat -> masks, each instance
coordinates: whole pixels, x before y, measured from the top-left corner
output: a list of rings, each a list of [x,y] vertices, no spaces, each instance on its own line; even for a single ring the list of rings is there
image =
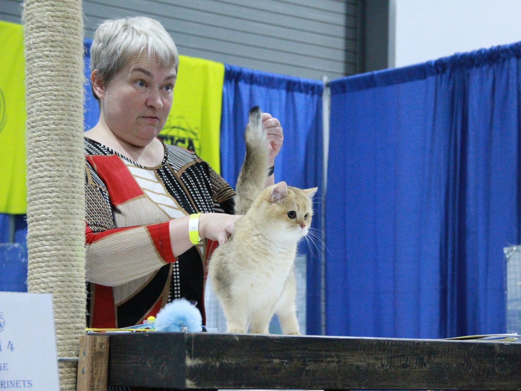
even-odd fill
[[[521,43],[331,82],[327,334],[505,332]]]

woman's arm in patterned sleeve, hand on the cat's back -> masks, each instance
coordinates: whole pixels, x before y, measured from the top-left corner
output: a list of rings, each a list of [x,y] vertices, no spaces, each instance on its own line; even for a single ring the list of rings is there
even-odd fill
[[[130,282],[167,263],[176,262],[177,256],[194,246],[189,238],[189,216],[156,224],[116,228],[108,191],[89,163],[85,167],[85,176],[85,271],[88,282],[105,286]],[[239,217],[202,214],[199,235],[224,242]]]

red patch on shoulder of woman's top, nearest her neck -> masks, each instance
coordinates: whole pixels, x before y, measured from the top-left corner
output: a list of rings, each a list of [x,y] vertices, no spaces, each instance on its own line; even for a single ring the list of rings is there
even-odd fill
[[[87,159],[107,186],[114,206],[144,194],[118,155],[89,155]]]

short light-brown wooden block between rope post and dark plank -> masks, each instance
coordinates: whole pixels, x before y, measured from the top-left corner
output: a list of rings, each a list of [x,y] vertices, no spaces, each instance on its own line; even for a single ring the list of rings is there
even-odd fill
[[[107,389],[108,344],[108,336],[85,335],[80,337],[78,391]]]

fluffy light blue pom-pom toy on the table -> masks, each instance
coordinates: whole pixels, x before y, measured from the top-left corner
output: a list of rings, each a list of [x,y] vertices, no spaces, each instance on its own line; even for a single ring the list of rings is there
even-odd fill
[[[185,299],[176,299],[166,304],[157,313],[155,331],[189,332],[203,331],[201,312]]]

